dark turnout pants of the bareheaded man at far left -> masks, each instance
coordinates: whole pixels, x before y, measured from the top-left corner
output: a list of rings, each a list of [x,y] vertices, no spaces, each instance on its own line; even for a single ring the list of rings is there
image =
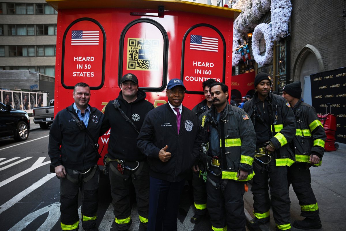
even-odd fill
[[[93,167],[96,170],[92,170],[87,174],[79,174],[72,169],[67,169],[66,173],[70,177],[80,181],[79,184],[71,182],[67,177],[60,178],[60,212],[61,212],[61,228],[62,230],[74,230],[79,226],[78,216],[78,193],[81,190],[82,193],[82,227],[84,229],[91,229],[96,225],[97,219],[97,206],[99,202],[99,168]],[[85,170],[83,170],[85,172]],[[83,179],[93,174],[93,177],[84,182]]]

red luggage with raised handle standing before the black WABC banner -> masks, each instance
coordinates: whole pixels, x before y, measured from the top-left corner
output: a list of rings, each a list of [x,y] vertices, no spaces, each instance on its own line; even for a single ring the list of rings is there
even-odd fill
[[[327,113],[328,105],[329,105],[329,113]],[[317,115],[317,116],[320,119],[327,135],[327,139],[325,142],[325,151],[331,152],[331,151],[337,150],[339,148],[339,144],[335,143],[336,116],[331,114],[331,104],[326,104],[325,115]]]

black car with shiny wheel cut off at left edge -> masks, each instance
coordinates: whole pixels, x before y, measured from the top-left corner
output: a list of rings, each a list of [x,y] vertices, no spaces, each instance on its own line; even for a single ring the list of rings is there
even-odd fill
[[[13,138],[16,141],[28,139],[30,119],[27,112],[12,109],[0,102],[0,140]]]

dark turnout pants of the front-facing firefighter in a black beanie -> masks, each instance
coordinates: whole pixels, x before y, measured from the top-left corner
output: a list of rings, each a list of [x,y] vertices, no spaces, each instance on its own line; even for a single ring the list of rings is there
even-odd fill
[[[255,176],[253,178],[251,192],[254,195],[254,215],[258,219],[269,217],[270,199],[268,192],[268,179],[270,179],[270,196],[276,226],[279,229],[290,227],[291,201],[287,188],[288,167],[276,166],[275,158],[273,157],[272,161],[266,166],[257,161],[253,166]]]

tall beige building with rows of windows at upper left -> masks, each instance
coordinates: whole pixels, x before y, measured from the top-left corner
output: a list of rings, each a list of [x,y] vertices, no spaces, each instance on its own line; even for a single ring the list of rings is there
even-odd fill
[[[44,0],[0,2],[0,70],[54,76],[56,23],[57,11]]]

